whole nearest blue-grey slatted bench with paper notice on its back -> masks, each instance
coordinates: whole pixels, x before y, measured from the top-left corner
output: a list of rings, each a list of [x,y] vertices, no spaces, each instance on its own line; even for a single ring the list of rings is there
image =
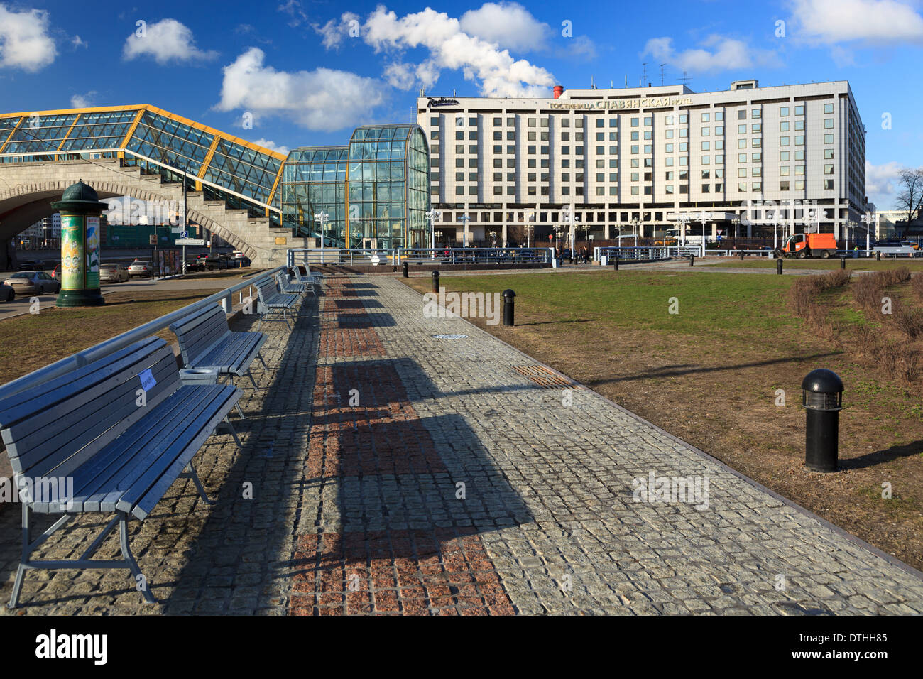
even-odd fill
[[[133,585],[155,603],[129,549],[128,521],[132,516],[143,521],[181,477],[192,479],[210,502],[192,458],[222,420],[227,422],[240,395],[232,384],[182,384],[173,350],[158,337],[18,394],[4,396],[0,390],[6,454],[19,486],[25,481],[32,488],[27,485],[28,492],[19,496],[22,556],[10,608],[18,604],[25,572],[34,568],[128,568]],[[30,512],[61,517],[33,539]],[[78,559],[30,559],[55,531],[90,512],[115,516]],[[122,559],[90,559],[116,525]]]

